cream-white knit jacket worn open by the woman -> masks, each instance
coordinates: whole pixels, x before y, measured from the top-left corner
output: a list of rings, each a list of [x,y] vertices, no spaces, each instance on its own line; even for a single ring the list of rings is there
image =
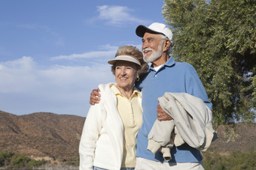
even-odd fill
[[[120,169],[123,158],[123,123],[117,97],[110,86],[99,85],[101,100],[90,107],[79,145],[80,170]],[[141,101],[142,99],[139,98]]]

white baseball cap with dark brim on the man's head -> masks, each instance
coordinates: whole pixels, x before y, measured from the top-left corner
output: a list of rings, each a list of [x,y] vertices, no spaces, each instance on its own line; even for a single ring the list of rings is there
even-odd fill
[[[149,33],[152,33],[152,34],[165,35],[166,37],[169,38],[169,40],[171,41],[172,46],[173,46],[172,31],[163,23],[154,22],[151,25],[149,25],[148,27],[146,27],[145,25],[139,25],[136,28],[136,34],[139,37],[143,37],[146,31],[148,31]]]

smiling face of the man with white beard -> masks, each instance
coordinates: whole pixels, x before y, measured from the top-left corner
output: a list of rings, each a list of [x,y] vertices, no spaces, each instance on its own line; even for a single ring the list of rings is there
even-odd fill
[[[145,32],[142,38],[143,59],[146,62],[156,61],[163,54],[163,38],[160,34]]]

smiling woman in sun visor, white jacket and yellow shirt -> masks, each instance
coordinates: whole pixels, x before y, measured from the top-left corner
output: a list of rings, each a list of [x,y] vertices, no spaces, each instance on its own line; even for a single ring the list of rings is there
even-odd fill
[[[142,126],[141,94],[134,87],[148,70],[142,52],[120,46],[112,64],[116,83],[99,85],[101,100],[90,107],[79,145],[80,170],[134,169]]]

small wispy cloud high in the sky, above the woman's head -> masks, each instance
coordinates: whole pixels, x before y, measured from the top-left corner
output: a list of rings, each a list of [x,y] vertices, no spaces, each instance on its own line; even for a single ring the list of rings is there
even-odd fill
[[[99,15],[97,19],[105,20],[108,25],[122,26],[130,23],[145,24],[145,19],[139,19],[133,16],[133,10],[124,6],[102,5],[97,7]],[[93,19],[95,21],[95,18]]]

